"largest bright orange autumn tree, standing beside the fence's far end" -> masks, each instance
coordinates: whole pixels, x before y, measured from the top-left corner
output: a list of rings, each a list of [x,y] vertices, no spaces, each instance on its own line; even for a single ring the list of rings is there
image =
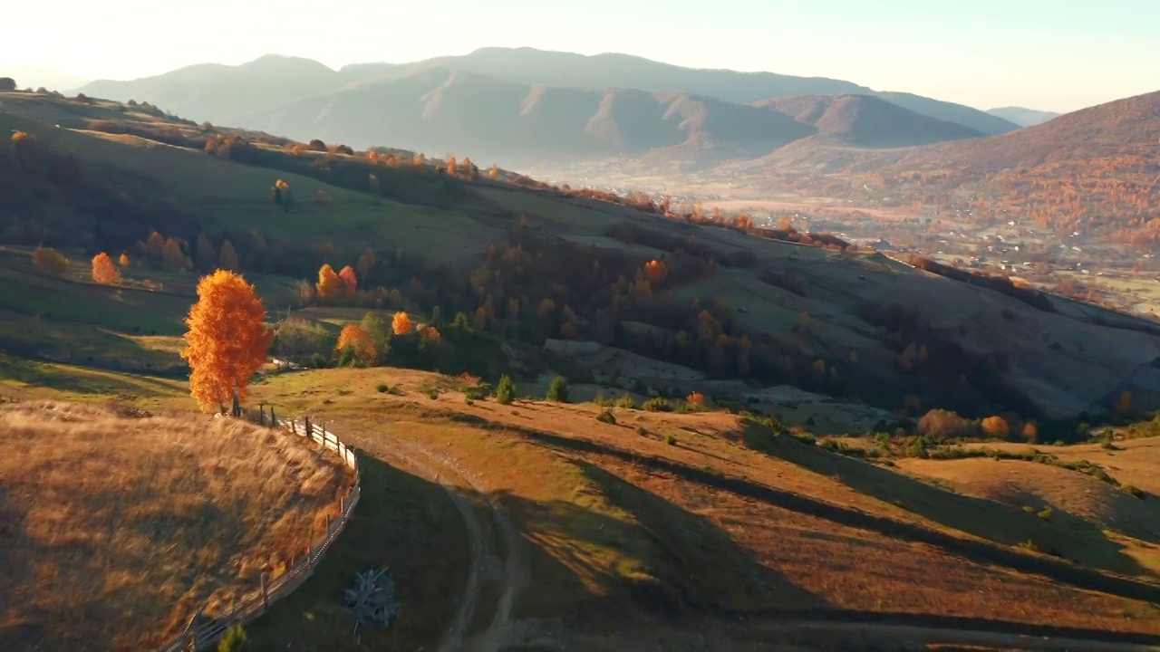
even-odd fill
[[[249,377],[266,362],[274,332],[266,327],[266,307],[240,274],[219,269],[197,283],[197,303],[189,309],[186,349],[189,389],[202,410],[233,400],[240,415]]]

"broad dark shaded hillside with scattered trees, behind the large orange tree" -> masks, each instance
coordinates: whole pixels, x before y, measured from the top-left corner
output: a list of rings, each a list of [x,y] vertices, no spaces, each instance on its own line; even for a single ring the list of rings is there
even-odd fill
[[[478,79],[466,77],[464,88]],[[646,106],[655,100],[629,97]],[[444,100],[449,108],[463,106],[454,94],[429,100],[435,110]],[[516,93],[508,101],[522,99]],[[473,179],[470,169],[448,174],[442,161],[392,165],[336,150],[291,148],[292,142],[206,132],[117,104],[22,93],[7,94],[3,103],[15,113],[0,113],[0,126],[35,135],[48,166],[43,183],[17,182],[5,194],[5,232],[15,244],[140,251],[137,242],[161,229],[197,259],[190,244],[208,233],[213,246],[230,239],[244,266],[288,281],[316,276],[324,261],[353,263],[370,247],[393,262],[367,282],[414,288],[411,300],[418,303],[411,305],[419,310],[440,305],[444,314],[481,314],[481,324],[494,320],[498,332],[507,332],[502,324],[536,313],[549,299],[574,316],[564,329],[570,338],[637,355],[615,371],[632,383],[675,392],[702,387],[757,404],[774,399],[755,387],[785,383],[887,411],[913,394],[923,405],[976,415],[1010,410],[1060,422],[1105,411],[1125,390],[1141,405],[1160,401],[1146,372],[1158,346],[1151,323],[1009,283],[963,283],[872,252],[821,248],[831,241],[824,238],[804,247],[760,231],[688,224],[661,217],[647,202],[635,204],[641,212],[624,202],[535,189],[501,171],[495,179]],[[110,115],[119,117],[104,119]],[[72,122],[52,126],[61,116]],[[1067,121],[1035,129],[1059,124]],[[208,138],[220,143],[211,152]],[[915,151],[925,150],[894,152]],[[71,169],[53,162],[61,155],[86,173],[61,178]],[[278,178],[299,197],[292,213],[268,195]],[[79,186],[55,189],[70,184]],[[520,216],[535,229],[513,231]],[[490,251],[495,253],[485,255]],[[645,283],[651,273],[643,266],[657,258],[668,273]],[[542,346],[559,328],[542,323],[521,338]],[[898,362],[920,346],[928,352],[922,365]],[[650,358],[691,365],[697,374],[674,375]]]

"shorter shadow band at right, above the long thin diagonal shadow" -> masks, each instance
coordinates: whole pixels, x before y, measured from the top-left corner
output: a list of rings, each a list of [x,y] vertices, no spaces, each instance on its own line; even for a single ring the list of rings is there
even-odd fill
[[[1125,575],[1150,574],[1095,523],[1059,512],[1041,517],[993,500],[969,497],[868,462],[773,436],[760,426],[744,432],[748,448],[791,462],[847,487],[948,528],[1001,545],[1027,545],[1046,555]],[[1071,526],[1071,527],[1065,527]],[[1160,587],[1158,587],[1160,591]]]

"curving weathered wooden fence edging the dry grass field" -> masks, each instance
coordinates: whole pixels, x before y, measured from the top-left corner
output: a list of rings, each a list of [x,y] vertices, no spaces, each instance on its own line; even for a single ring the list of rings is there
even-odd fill
[[[247,594],[229,614],[215,618],[201,618],[201,610],[198,610],[190,618],[184,631],[162,646],[160,649],[161,652],[204,650],[222,638],[222,635],[231,626],[246,624],[264,614],[270,608],[270,604],[289,595],[313,574],[314,567],[322,559],[322,555],[326,553],[331,544],[339,537],[347,521],[350,520],[355,505],[358,504],[358,497],[362,494],[358,461],[354,449],[340,442],[338,437],[327,433],[318,425],[311,423],[309,418],[304,421],[280,419],[277,423],[297,435],[310,436],[311,440],[322,448],[338,452],[343,463],[354,471],[355,481],[350,487],[350,492],[339,499],[339,517],[333,522],[327,520],[326,533],[306,549],[303,557],[291,563],[284,573],[273,580],[268,579],[267,573],[263,573],[261,586]],[[203,622],[198,623],[200,620]]]

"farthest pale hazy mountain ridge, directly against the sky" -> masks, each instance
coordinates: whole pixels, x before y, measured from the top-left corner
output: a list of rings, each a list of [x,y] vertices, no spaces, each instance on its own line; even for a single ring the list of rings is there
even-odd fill
[[[148,101],[197,121],[239,124],[247,116],[271,111],[297,100],[415,79],[419,73],[436,70],[474,73],[528,86],[675,92],[734,104],[793,95],[867,95],[983,135],[1018,128],[970,107],[908,93],[876,92],[842,80],[688,68],[629,55],[583,56],[530,48],[485,48],[464,56],[409,64],[353,64],[338,71],[310,59],[270,55],[239,66],[202,64],[132,81],[97,80],[81,90],[110,100]],[[382,142],[376,137],[370,140]]]

